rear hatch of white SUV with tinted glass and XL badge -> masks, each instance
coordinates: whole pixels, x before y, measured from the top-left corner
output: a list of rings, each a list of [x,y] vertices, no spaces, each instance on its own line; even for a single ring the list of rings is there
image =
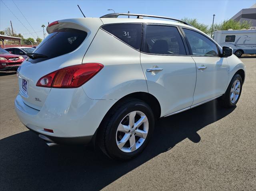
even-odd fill
[[[79,18],[61,20],[47,27],[49,35],[18,72],[20,95],[25,104],[37,110],[42,108],[51,88],[36,86],[38,80],[60,68],[82,64],[101,25],[99,18]]]

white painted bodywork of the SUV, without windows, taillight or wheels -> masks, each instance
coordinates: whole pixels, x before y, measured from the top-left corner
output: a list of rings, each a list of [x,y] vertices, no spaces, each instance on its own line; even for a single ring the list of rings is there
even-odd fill
[[[88,35],[70,53],[36,64],[22,63],[18,81],[20,88],[22,79],[28,81],[28,96],[20,91],[15,110],[24,125],[39,134],[55,137],[92,136],[108,110],[126,95],[136,92],[151,94],[160,103],[161,117],[167,116],[224,94],[236,71],[245,69],[234,55],[206,58],[140,53],[100,29],[103,24],[113,23],[171,24],[199,31],[164,20],[79,18],[59,21],[58,25],[48,27],[47,32],[68,27],[84,30]],[[104,68],[82,87],[50,89],[36,86],[38,79],[48,73],[92,62],[101,63]],[[208,70],[198,71],[197,67],[202,64],[207,65]],[[155,65],[162,67],[163,71],[156,74],[146,72]],[[44,128],[52,129],[54,133]]]

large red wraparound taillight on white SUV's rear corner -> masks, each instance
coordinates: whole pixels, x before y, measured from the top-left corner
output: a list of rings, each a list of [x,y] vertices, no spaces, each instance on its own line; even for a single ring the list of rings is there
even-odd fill
[[[77,88],[94,77],[104,66],[86,63],[68,66],[49,73],[38,80],[36,86],[48,88]]]

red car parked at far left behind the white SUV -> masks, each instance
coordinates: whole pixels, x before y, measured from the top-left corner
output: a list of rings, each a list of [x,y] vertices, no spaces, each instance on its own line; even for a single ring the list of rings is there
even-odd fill
[[[0,71],[17,70],[25,59],[0,48]]]

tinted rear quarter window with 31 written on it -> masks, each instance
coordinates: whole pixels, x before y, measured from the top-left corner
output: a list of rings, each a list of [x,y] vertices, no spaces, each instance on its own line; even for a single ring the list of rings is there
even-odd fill
[[[121,41],[135,49],[140,49],[142,38],[142,24],[114,24],[105,25],[102,29],[111,33]]]

